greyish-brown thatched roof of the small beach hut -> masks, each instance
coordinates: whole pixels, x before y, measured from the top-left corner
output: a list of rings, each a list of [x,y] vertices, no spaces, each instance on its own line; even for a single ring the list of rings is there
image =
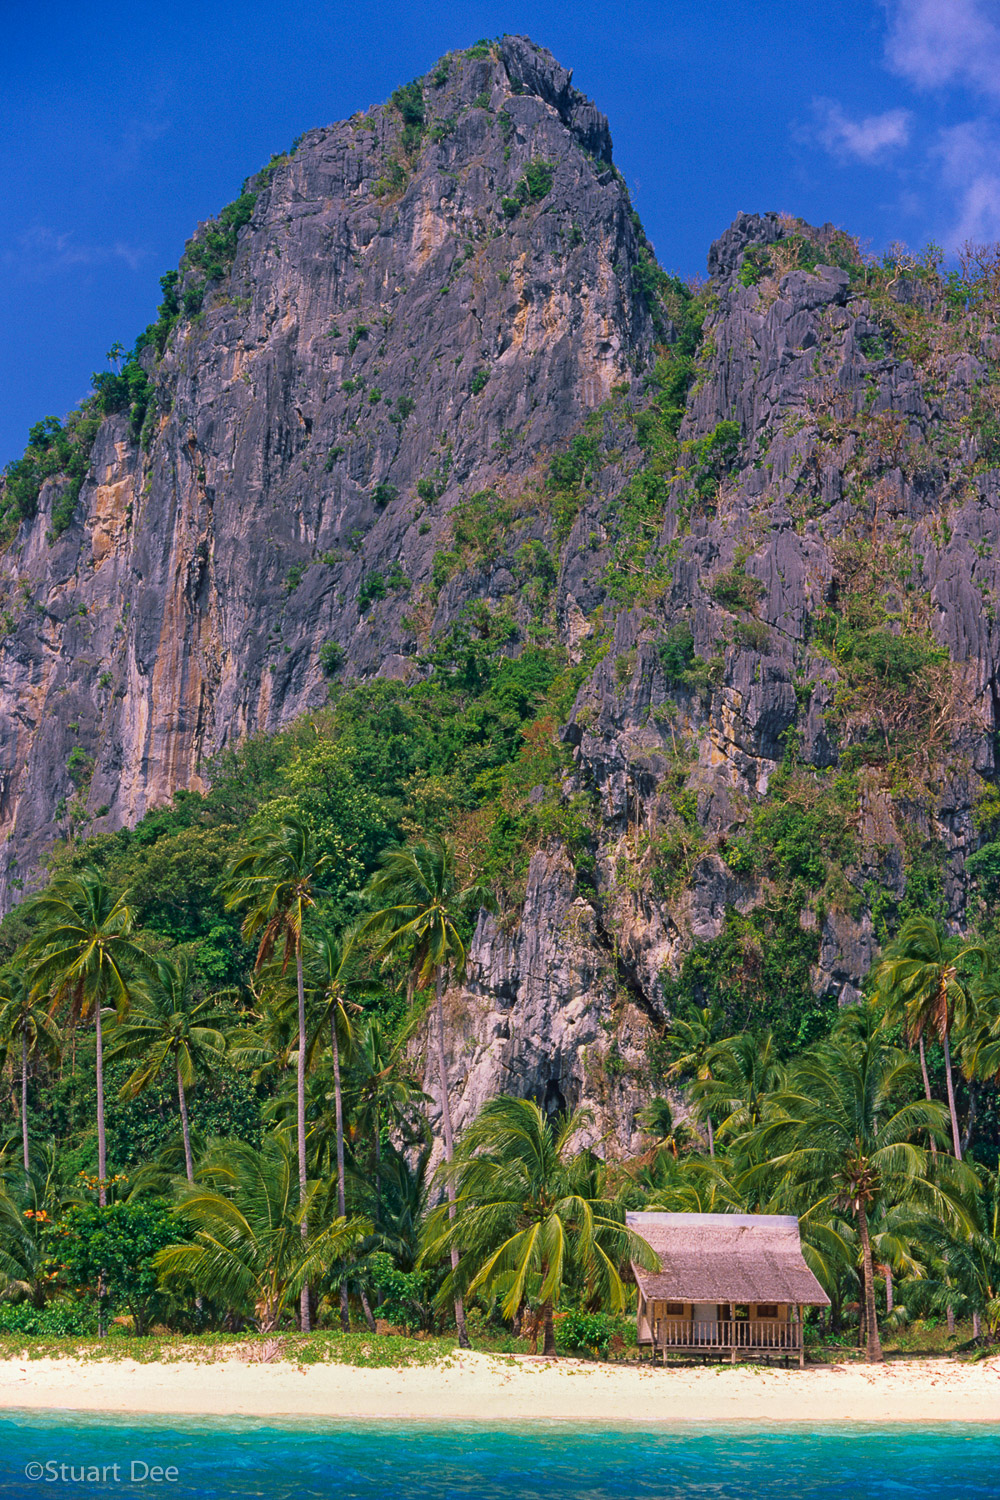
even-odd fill
[[[640,1292],[663,1302],[802,1302],[829,1298],[802,1258],[799,1221],[780,1214],[627,1214],[660,1257],[633,1264]]]

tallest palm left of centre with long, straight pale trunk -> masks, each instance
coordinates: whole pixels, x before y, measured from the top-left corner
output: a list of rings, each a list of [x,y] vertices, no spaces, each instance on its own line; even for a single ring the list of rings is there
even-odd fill
[[[316,904],[316,876],[328,862],[316,854],[312,830],[301,818],[285,818],[277,831],[250,840],[232,862],[223,882],[225,908],[244,906],[243,936],[258,939],[256,968],[282,948],[282,972],[295,960],[298,993],[298,1059],[295,1102],[298,1112],[298,1190],[306,1202],[306,981],[303,975],[303,927],[306,912]],[[301,1220],[301,1236],[309,1226]],[[309,1286],[301,1288],[301,1326],[309,1332]]]

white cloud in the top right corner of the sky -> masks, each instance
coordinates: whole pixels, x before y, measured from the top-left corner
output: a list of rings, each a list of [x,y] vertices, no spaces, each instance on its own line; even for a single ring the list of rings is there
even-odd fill
[[[921,88],[964,84],[1000,99],[1000,24],[993,0],[883,0],[886,56]]]

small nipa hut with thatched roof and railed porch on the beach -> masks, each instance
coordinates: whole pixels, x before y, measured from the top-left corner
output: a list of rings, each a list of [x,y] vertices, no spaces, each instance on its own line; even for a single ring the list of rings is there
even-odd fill
[[[639,1344],[705,1353],[799,1356],[802,1308],[829,1298],[802,1258],[799,1221],[780,1214],[628,1214],[660,1258],[633,1263]]]

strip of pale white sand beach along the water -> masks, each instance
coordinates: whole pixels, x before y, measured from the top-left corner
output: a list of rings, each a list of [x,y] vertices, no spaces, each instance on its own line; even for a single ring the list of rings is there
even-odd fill
[[[0,1362],[0,1408],[198,1416],[583,1422],[1000,1422],[1000,1359],[784,1370],[622,1368],[456,1353],[406,1370]]]

